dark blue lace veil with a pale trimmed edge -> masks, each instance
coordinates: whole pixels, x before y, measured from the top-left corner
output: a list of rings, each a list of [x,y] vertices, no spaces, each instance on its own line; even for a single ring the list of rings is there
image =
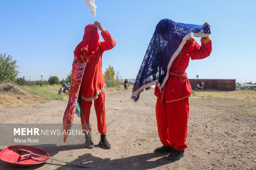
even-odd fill
[[[159,21],[137,74],[132,100],[137,102],[144,88],[156,84],[156,81],[161,90],[169,77],[168,70],[186,40],[192,36],[208,37],[210,34],[208,26],[176,23],[171,19]]]

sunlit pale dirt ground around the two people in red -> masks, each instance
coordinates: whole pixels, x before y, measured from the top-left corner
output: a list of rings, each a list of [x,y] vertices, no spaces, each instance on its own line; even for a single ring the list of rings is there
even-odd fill
[[[252,91],[254,96],[256,92]],[[95,145],[36,145],[50,156],[72,163],[86,163],[96,170],[256,170],[256,101],[190,97],[188,148],[179,161],[168,161],[168,154],[156,154],[158,137],[153,90],[130,100],[131,91],[106,92],[107,138],[109,150]],[[23,107],[0,107],[1,123],[62,123],[66,101],[31,103]],[[74,123],[80,118],[74,117]],[[94,144],[98,144],[95,110],[90,123]],[[0,147],[3,149],[5,147]],[[0,161],[1,170],[80,170],[57,161],[33,167],[17,167]]]

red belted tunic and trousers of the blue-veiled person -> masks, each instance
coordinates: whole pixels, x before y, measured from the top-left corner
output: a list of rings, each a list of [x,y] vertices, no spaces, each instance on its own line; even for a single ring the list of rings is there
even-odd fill
[[[188,39],[171,65],[163,91],[158,86],[155,88],[157,128],[160,141],[165,146],[172,146],[175,150],[187,148],[188,97],[192,95],[192,89],[185,69],[190,58],[206,58],[211,49],[210,37],[201,38],[201,46],[193,38]]]

